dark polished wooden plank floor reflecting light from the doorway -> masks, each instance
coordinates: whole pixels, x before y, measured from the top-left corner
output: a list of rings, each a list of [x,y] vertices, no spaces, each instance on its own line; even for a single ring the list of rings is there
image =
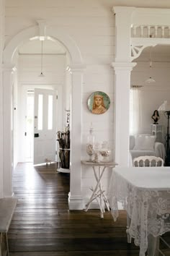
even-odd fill
[[[20,163],[14,171],[10,256],[137,256],[138,247],[127,243],[125,211],[117,222],[108,212],[101,219],[99,210],[69,211],[70,174],[55,169]]]

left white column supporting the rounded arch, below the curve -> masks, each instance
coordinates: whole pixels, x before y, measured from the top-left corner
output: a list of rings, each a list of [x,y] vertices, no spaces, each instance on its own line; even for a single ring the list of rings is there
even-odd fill
[[[4,148],[4,197],[12,197],[12,65],[4,65],[3,68],[3,148]]]

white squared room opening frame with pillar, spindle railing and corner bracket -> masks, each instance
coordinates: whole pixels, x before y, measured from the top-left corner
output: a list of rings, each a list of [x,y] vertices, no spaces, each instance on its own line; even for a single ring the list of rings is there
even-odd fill
[[[170,9],[113,7],[113,12],[116,14],[116,52],[115,62],[112,62],[115,69],[115,161],[119,166],[129,166],[130,74],[136,64],[132,61],[140,56],[143,48],[170,45]]]

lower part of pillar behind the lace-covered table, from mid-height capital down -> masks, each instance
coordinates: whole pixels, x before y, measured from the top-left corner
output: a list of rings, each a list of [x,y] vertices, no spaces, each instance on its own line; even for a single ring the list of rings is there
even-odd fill
[[[129,166],[130,72],[135,63],[113,62],[115,69],[115,161]]]

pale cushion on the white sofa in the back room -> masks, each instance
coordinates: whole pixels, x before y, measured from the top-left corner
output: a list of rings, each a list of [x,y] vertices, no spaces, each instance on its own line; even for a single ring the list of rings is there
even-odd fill
[[[153,135],[136,135],[135,147],[133,150],[154,150],[156,136]]]

